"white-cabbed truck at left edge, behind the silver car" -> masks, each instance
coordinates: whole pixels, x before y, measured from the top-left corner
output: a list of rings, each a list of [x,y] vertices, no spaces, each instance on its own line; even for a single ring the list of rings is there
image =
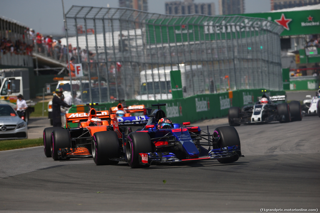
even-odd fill
[[[28,123],[29,116],[35,111],[34,105],[36,104],[30,100],[29,70],[26,68],[2,69],[0,75],[0,100],[16,104],[17,96],[21,94],[26,100],[28,108],[19,116]]]

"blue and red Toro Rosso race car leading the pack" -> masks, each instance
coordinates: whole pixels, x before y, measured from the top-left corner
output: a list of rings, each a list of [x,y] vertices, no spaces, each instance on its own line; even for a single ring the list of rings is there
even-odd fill
[[[203,160],[232,163],[244,157],[234,127],[218,127],[210,134],[209,130],[206,133],[199,127],[189,126],[190,122],[172,123],[161,109],[165,105],[153,104],[156,109],[145,109],[147,121],[139,121],[134,116],[117,118],[113,122],[114,131],[96,132],[92,139],[94,162],[105,165],[125,161],[132,168],[147,168]],[[132,131],[136,126],[142,128]],[[104,135],[107,133],[108,136]],[[111,137],[111,134],[114,135]]]

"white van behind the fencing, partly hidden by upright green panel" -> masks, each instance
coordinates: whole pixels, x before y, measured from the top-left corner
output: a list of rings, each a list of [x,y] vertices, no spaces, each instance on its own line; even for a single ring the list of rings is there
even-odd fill
[[[191,72],[191,68],[193,72]],[[190,65],[184,66],[184,64],[181,64],[179,69],[181,72],[183,97],[204,93],[204,77],[203,75],[198,74],[200,70],[202,71],[201,65],[192,65],[191,67]],[[178,66],[173,66],[172,69],[170,66],[167,66],[159,67],[159,70],[156,67],[153,70],[148,69],[141,71],[141,95],[136,95],[135,98],[138,100],[172,99],[170,81],[171,70],[178,70]]]

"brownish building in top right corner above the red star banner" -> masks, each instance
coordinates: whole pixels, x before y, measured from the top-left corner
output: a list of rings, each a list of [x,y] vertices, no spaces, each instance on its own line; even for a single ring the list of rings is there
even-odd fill
[[[281,10],[292,7],[320,4],[320,0],[271,0],[271,10]]]

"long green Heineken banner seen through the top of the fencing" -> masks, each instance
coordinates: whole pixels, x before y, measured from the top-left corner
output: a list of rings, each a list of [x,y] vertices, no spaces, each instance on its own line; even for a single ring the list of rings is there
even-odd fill
[[[147,42],[181,43],[240,39],[265,34],[264,30],[280,34],[276,23],[244,16],[184,16],[147,20]]]

